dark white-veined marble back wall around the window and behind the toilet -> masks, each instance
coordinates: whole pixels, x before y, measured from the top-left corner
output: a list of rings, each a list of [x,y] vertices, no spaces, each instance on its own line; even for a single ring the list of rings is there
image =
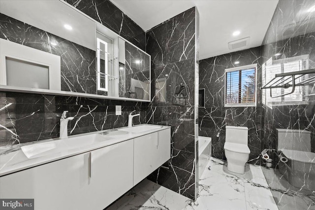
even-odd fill
[[[238,60],[239,64],[234,64]],[[257,63],[257,106],[224,107],[224,70]],[[260,164],[261,152],[261,48],[216,56],[200,60],[199,88],[205,89],[205,107],[199,108],[199,135],[212,138],[212,156],[226,159],[224,155],[225,126],[246,126],[249,128],[250,161]]]

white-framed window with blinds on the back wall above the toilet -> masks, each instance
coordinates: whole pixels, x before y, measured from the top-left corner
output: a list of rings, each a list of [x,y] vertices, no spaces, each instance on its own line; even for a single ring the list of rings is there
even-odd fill
[[[225,106],[256,105],[257,64],[225,69]]]

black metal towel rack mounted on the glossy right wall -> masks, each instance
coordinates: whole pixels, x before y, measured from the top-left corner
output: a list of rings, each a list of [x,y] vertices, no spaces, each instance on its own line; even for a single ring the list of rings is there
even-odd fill
[[[262,86],[260,89],[270,89],[270,97],[271,98],[276,98],[276,97],[281,97],[284,95],[288,95],[294,92],[295,87],[297,86],[304,86],[304,85],[309,85],[315,83],[315,75],[311,76],[301,82],[296,82],[295,80],[298,78],[303,77],[306,74],[313,74],[315,73],[315,68],[313,69],[308,69],[308,70],[303,70],[303,71],[294,71],[294,72],[287,72],[287,73],[280,73],[280,74],[275,74],[275,77],[270,80],[266,85]],[[290,84],[292,83],[292,84]],[[289,88],[292,87],[292,90],[288,93],[280,94],[273,96],[272,95],[272,89],[274,88]],[[308,95],[303,95],[303,96],[311,96],[315,95],[314,94],[308,94]]]

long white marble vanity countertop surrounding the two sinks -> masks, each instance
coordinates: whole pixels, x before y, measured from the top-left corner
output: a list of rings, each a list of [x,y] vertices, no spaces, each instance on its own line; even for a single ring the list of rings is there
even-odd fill
[[[145,125],[145,124],[141,124],[141,125]],[[138,126],[141,126],[141,125],[138,125]],[[107,146],[117,144],[117,143],[129,140],[129,139],[133,139],[133,138],[143,136],[149,133],[153,133],[153,132],[170,128],[170,126],[163,126],[163,125],[156,125],[156,126],[157,128],[153,130],[141,131],[138,133],[128,132],[127,134],[124,134],[124,135],[111,136],[112,139],[97,142],[92,145],[80,146],[78,144],[71,147],[69,146],[69,147],[63,148],[63,150],[61,150],[60,152],[44,155],[40,157],[35,157],[35,158],[28,158],[24,154],[24,152],[21,150],[21,147],[27,146],[27,145],[33,145],[33,144],[40,144],[44,142],[53,142],[56,140],[62,140],[66,142],[68,139],[75,138],[78,136],[88,136],[91,134],[101,134],[104,132],[110,133],[110,132],[116,131],[117,129],[126,128],[126,127],[115,128],[115,129],[110,129],[110,130],[95,131],[91,133],[83,133],[83,134],[69,136],[68,138],[64,138],[64,139],[55,138],[55,139],[47,139],[47,140],[42,140],[38,142],[30,142],[30,143],[25,143],[25,144],[20,144],[20,145],[0,147],[0,176],[4,176],[7,174],[17,172],[17,171],[32,168],[34,166],[39,166],[45,163],[53,162],[56,160],[60,160],[66,157],[81,154],[81,153],[88,152],[91,150],[107,147]],[[137,125],[134,127],[137,127]],[[104,136],[106,136],[106,134]]]

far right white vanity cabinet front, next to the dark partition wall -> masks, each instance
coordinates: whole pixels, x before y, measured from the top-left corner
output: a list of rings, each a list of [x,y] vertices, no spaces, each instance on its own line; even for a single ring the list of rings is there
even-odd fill
[[[171,129],[134,139],[133,185],[171,158]]]

